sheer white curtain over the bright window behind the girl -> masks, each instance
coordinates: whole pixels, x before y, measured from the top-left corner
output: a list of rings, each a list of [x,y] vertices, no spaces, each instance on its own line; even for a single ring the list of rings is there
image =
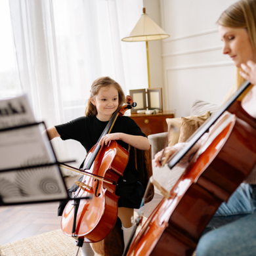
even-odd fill
[[[125,93],[146,88],[145,43],[125,43],[142,0],[9,0],[18,70],[35,117],[47,127],[84,115],[91,83],[108,75]],[[53,140],[58,160],[86,152]],[[65,171],[68,175],[70,172]]]

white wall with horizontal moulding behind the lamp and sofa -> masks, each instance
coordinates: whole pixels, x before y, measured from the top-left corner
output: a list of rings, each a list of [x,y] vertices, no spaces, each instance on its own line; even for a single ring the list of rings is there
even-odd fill
[[[163,84],[164,110],[175,110],[176,117],[189,116],[196,99],[221,104],[234,84],[234,64],[222,54],[215,24],[221,12],[234,2],[236,0],[144,0],[150,18],[170,35],[167,39],[149,42],[150,77],[152,87],[160,87],[158,81]],[[162,64],[153,57],[159,51]]]

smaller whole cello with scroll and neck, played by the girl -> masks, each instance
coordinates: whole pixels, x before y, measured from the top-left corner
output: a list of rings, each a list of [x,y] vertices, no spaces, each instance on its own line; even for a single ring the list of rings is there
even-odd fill
[[[131,96],[127,96],[127,104],[116,110],[106,125],[98,141],[110,133],[118,116],[136,106]],[[125,148],[116,140],[100,146],[98,143],[88,152],[83,164],[84,175],[81,182],[77,181],[78,189],[74,192],[74,200],[70,200],[61,219],[62,232],[78,240],[78,246],[85,242],[98,242],[105,238],[117,220],[116,184],[129,160]],[[98,179],[98,177],[101,177]],[[111,181],[111,182],[110,182]],[[91,200],[79,199],[89,197]]]

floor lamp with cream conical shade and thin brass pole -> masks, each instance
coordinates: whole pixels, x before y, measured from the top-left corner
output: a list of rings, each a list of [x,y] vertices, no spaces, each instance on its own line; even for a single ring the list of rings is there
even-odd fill
[[[143,14],[141,15],[139,21],[133,28],[133,31],[129,37],[124,37],[121,41],[126,42],[138,42],[146,41],[146,60],[148,64],[148,88],[150,88],[150,68],[149,68],[149,58],[148,58],[148,41],[161,40],[169,37],[158,24],[156,24],[149,16],[146,14],[146,8],[143,8]]]

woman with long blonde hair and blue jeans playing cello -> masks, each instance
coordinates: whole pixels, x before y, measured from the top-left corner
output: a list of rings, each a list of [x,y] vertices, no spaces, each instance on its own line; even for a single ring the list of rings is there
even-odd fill
[[[254,85],[242,105],[256,118],[256,0],[234,3],[221,14],[217,24],[224,42],[223,54],[229,55],[236,67],[244,70],[240,75]],[[250,104],[246,99],[250,99]],[[168,152],[173,154],[179,147],[182,145],[166,148],[165,156]],[[156,165],[160,165],[160,157],[161,152],[158,152]],[[206,234],[198,243],[196,256],[256,255],[256,166],[245,182],[228,203],[221,204],[205,228]]]

